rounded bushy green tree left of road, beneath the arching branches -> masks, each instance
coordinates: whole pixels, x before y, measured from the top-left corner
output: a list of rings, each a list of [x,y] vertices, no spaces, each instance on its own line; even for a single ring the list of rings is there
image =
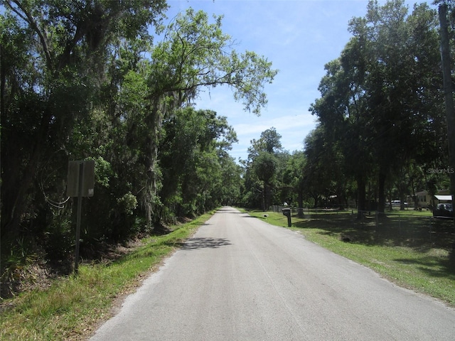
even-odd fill
[[[237,200],[240,172],[228,155],[237,138],[225,117],[186,107],[164,119],[161,134],[159,197],[165,216],[196,215]]]

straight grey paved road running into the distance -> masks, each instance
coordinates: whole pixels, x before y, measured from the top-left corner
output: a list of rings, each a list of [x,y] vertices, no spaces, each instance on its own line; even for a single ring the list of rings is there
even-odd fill
[[[455,340],[455,310],[224,207],[91,340]]]

